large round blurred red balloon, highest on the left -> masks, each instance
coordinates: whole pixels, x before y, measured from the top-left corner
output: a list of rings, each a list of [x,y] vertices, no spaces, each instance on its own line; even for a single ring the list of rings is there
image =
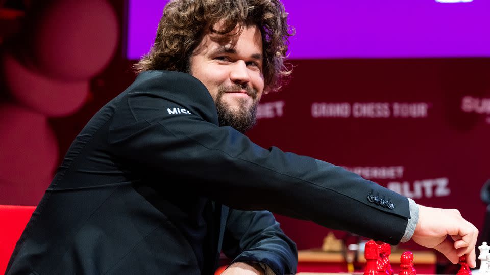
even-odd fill
[[[114,56],[119,25],[106,0],[57,0],[34,16],[27,63],[63,80],[89,79]]]

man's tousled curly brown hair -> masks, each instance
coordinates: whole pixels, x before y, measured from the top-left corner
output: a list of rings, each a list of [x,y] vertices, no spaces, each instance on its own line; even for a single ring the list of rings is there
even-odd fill
[[[287,25],[287,13],[279,0],[173,0],[163,10],[155,44],[134,68],[188,72],[189,57],[199,45],[204,31],[220,35],[240,26],[255,25],[261,30],[263,75],[266,88],[279,90],[292,69],[284,64],[288,38],[294,31]],[[220,23],[220,30],[214,25]],[[240,32],[238,31],[238,32]]]

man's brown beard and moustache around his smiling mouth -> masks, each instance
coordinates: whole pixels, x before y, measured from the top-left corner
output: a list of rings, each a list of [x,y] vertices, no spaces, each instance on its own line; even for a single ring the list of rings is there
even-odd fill
[[[247,92],[247,95],[252,97],[253,104],[251,107],[247,107],[247,101],[240,98],[237,101],[238,109],[232,109],[223,100],[223,95],[225,95],[225,91],[240,91],[242,89]],[[218,111],[219,126],[231,126],[235,130],[245,133],[257,123],[257,90],[248,85],[245,87],[240,87],[239,85],[232,87],[219,86],[218,95],[214,103]]]

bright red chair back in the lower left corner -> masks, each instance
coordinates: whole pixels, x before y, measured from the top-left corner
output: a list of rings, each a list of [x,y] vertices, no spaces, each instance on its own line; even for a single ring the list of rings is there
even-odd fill
[[[0,274],[4,274],[10,255],[22,231],[29,222],[35,206],[0,205]]]

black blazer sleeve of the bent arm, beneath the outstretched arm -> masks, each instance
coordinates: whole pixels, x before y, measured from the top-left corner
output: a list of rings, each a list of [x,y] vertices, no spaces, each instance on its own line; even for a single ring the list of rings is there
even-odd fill
[[[296,244],[279,228],[271,212],[230,209],[223,253],[233,262],[265,263],[275,274],[295,274]]]

